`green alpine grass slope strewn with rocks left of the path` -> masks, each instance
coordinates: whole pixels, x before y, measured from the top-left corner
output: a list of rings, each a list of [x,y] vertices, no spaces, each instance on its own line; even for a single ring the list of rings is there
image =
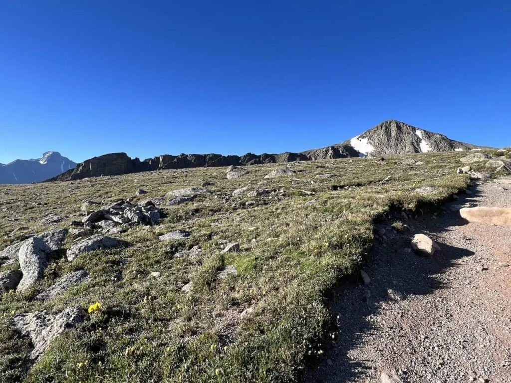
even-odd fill
[[[164,196],[181,187],[207,186],[213,195],[165,206],[156,227],[120,235],[130,246],[58,259],[45,278],[24,293],[0,298],[0,381],[27,382],[292,382],[323,351],[332,320],[327,297],[344,276],[364,263],[373,222],[392,207],[416,211],[464,189],[457,175],[467,153],[413,155],[293,164],[294,177],[264,179],[283,164],[247,166],[245,177],[227,180],[224,168],[160,171],[66,183],[0,186],[0,249],[26,232],[39,233],[79,220],[84,199],[133,201]],[[476,165],[476,166],[474,166]],[[480,169],[483,170],[483,163]],[[477,168],[477,164],[473,164]],[[329,179],[316,174],[334,173]],[[332,186],[340,186],[332,190]],[[262,197],[232,197],[243,186],[271,188]],[[413,190],[433,186],[434,193]],[[135,197],[138,188],[148,195]],[[336,187],[334,187],[336,188]],[[308,196],[303,192],[313,192]],[[317,199],[315,203],[306,202]],[[255,201],[246,207],[245,202]],[[64,222],[40,226],[50,212]],[[15,220],[12,220],[12,219]],[[402,223],[401,223],[402,225]],[[16,228],[23,228],[9,236]],[[402,226],[396,223],[396,228]],[[188,240],[162,243],[157,236],[188,229]],[[221,254],[222,241],[241,251]],[[173,255],[193,246],[197,258]],[[237,275],[217,273],[234,265]],[[92,280],[47,302],[32,298],[67,272],[85,268]],[[160,278],[150,277],[159,271]],[[113,281],[115,273],[122,280]],[[193,282],[191,294],[181,292]],[[26,371],[30,341],[12,330],[12,317],[100,302],[99,313],[57,338]],[[253,311],[241,318],[247,309]]]

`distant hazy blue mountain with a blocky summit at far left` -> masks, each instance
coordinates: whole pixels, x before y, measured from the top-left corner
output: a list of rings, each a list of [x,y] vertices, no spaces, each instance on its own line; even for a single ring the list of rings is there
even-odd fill
[[[75,166],[75,162],[58,152],[46,152],[38,159],[17,159],[0,164],[0,184],[41,182]]]

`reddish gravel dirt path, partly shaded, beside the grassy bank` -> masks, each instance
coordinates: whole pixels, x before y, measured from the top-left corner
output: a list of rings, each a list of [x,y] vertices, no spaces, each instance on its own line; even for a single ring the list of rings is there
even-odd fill
[[[404,234],[379,227],[371,281],[335,297],[341,332],[305,382],[511,382],[511,226],[467,223],[452,206],[511,207],[511,179],[497,181]],[[433,257],[409,251],[419,232],[439,244]]]

